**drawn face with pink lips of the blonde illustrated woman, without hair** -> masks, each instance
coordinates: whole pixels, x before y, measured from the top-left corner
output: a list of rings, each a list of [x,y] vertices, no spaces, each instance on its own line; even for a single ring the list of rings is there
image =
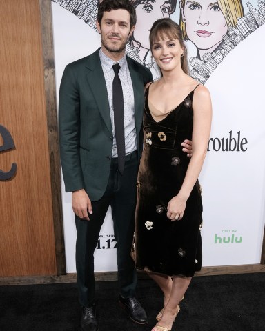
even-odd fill
[[[181,8],[180,4],[180,9],[186,23],[188,39],[200,50],[213,51],[228,30],[226,19],[217,1],[185,0],[184,8]]]

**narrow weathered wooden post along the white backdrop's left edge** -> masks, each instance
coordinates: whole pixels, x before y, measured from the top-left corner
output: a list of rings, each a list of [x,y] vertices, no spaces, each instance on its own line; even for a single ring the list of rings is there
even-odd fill
[[[55,251],[57,274],[61,275],[66,274],[66,257],[63,233],[63,210],[61,202],[61,161],[59,157],[59,132],[57,125],[52,3],[50,0],[39,0],[39,8],[41,10],[43,74],[44,88],[46,92],[46,114],[50,154],[50,183],[52,188],[53,225],[55,230]]]

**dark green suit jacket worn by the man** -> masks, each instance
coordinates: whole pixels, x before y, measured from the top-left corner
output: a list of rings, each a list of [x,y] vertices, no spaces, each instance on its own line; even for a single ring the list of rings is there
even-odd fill
[[[148,68],[127,57],[135,97],[137,146],[141,150],[144,86]],[[59,92],[59,139],[66,192],[84,188],[92,201],[106,190],[112,156],[110,106],[99,49],[66,66]],[[139,154],[139,153],[138,153]]]

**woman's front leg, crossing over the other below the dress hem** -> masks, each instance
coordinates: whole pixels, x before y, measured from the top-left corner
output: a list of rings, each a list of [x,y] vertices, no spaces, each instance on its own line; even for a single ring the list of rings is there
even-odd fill
[[[171,330],[176,317],[177,305],[186,293],[190,281],[191,277],[173,277],[170,298],[164,308],[161,320],[157,323],[158,325]],[[152,331],[160,331],[160,329],[155,326]]]

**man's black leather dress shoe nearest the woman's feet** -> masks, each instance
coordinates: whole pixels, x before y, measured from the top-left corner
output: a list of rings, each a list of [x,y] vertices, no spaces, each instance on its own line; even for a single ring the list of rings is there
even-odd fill
[[[122,308],[124,308],[130,317],[135,323],[146,324],[148,322],[146,311],[141,307],[141,304],[135,299],[132,298],[123,298],[119,295],[119,303]]]

